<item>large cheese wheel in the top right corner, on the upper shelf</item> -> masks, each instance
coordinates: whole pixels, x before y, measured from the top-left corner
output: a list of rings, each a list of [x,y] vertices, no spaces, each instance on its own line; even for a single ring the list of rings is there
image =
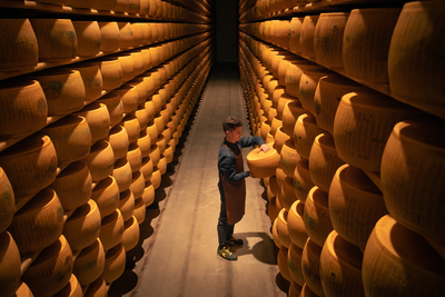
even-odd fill
[[[445,49],[439,42],[445,28],[444,11],[441,1],[406,3],[394,28],[388,52],[392,96],[441,118],[445,118],[439,100],[444,96],[441,69],[445,60],[441,53]]]

